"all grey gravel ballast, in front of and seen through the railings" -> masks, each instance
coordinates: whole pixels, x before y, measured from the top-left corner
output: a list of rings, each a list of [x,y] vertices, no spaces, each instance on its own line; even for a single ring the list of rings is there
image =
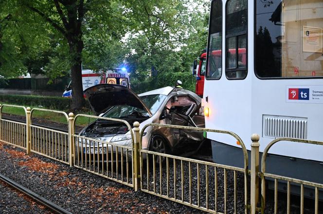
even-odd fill
[[[181,163],[176,162],[177,169],[180,169]],[[26,188],[36,192],[40,196],[47,198],[53,203],[74,214],[102,213],[102,214],[120,214],[120,213],[156,213],[156,214],[198,214],[205,213],[188,206],[181,205],[157,196],[144,193],[142,191],[134,192],[133,188],[126,185],[110,181],[106,178],[91,174],[76,167],[62,164],[47,157],[37,154],[26,155],[25,150],[16,148],[0,142],[0,174],[18,182]],[[145,167],[144,163],[144,167]],[[151,166],[151,165],[150,165]],[[174,196],[174,177],[172,171],[173,164],[169,165],[169,195]],[[165,195],[166,181],[165,165],[162,167],[162,192]],[[183,182],[184,182],[184,201],[189,198],[188,189],[188,163],[183,162]],[[160,193],[160,174],[159,168],[156,168],[156,180],[153,181],[153,172],[149,173],[149,190],[153,191],[155,185],[156,192]],[[192,189],[197,187],[196,165],[191,164]],[[208,178],[210,185],[209,206],[214,207],[214,168],[208,168]],[[223,169],[217,169],[218,182],[218,211],[224,212],[224,176]],[[237,173],[237,203],[238,214],[244,213],[244,181],[243,174]],[[200,204],[205,206],[205,166],[200,166],[200,194],[197,196],[196,189],[192,190],[192,200],[197,204],[197,198]],[[143,174],[143,188],[147,189],[147,176]],[[31,202],[24,198],[19,198],[17,193],[8,190],[8,187],[2,188],[0,183],[0,213],[46,213],[41,207],[30,205]],[[227,213],[233,213],[233,172],[227,172]],[[181,199],[181,173],[176,173],[176,192],[177,198]],[[273,194],[267,191],[266,214],[273,213]],[[17,198],[18,197],[18,198]],[[291,198],[291,214],[299,213],[299,202],[297,197]],[[20,202],[22,200],[22,202]],[[23,201],[24,200],[24,201]],[[11,203],[14,201],[14,203]],[[17,204],[16,204],[17,201]],[[3,206],[5,204],[6,206]],[[211,205],[210,205],[211,204]],[[312,201],[306,202],[311,205]],[[212,207],[213,206],[213,207]],[[278,213],[286,213],[286,195],[279,194]],[[306,208],[305,214],[312,214],[313,208]],[[322,214],[322,203],[319,204],[319,214]],[[38,210],[37,210],[38,209]],[[39,211],[39,212],[38,212]]]

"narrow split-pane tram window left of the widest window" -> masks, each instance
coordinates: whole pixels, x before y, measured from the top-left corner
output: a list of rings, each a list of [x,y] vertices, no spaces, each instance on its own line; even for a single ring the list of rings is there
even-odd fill
[[[228,0],[226,5],[226,76],[247,76],[247,0]]]

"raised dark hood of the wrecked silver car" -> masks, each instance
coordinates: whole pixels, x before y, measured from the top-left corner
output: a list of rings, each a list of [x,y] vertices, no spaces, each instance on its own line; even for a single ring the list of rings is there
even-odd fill
[[[150,116],[152,115],[143,100],[131,89],[122,85],[97,84],[87,88],[84,94],[90,103],[92,111],[97,115],[105,113],[115,105],[136,107],[146,111]]]

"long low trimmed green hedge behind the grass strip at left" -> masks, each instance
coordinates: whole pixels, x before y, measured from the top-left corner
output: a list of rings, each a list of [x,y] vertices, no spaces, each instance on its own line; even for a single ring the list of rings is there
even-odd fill
[[[61,97],[0,94],[0,102],[22,105],[26,107],[42,106],[47,109],[55,109],[61,111],[72,109],[72,99]]]

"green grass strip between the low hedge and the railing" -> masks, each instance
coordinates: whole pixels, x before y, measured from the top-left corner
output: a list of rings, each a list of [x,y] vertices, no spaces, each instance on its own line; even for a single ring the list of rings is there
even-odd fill
[[[1,103],[1,104],[9,104],[9,103]],[[31,106],[31,108],[33,109],[33,108],[40,108],[40,107]],[[12,106],[3,106],[2,113],[9,114],[9,115],[26,116],[23,108],[12,107]],[[66,112],[66,113],[69,114],[69,112]],[[79,114],[93,115],[93,113],[90,111],[79,112]],[[66,117],[63,114],[59,114],[55,112],[34,110],[32,114],[32,119],[33,118],[38,118],[38,119],[43,119],[43,120],[48,120],[48,121],[58,122],[63,124],[68,123]],[[77,117],[76,125],[86,126],[89,124],[89,122],[92,122],[93,120],[94,119],[90,117],[80,116],[80,117]]]

